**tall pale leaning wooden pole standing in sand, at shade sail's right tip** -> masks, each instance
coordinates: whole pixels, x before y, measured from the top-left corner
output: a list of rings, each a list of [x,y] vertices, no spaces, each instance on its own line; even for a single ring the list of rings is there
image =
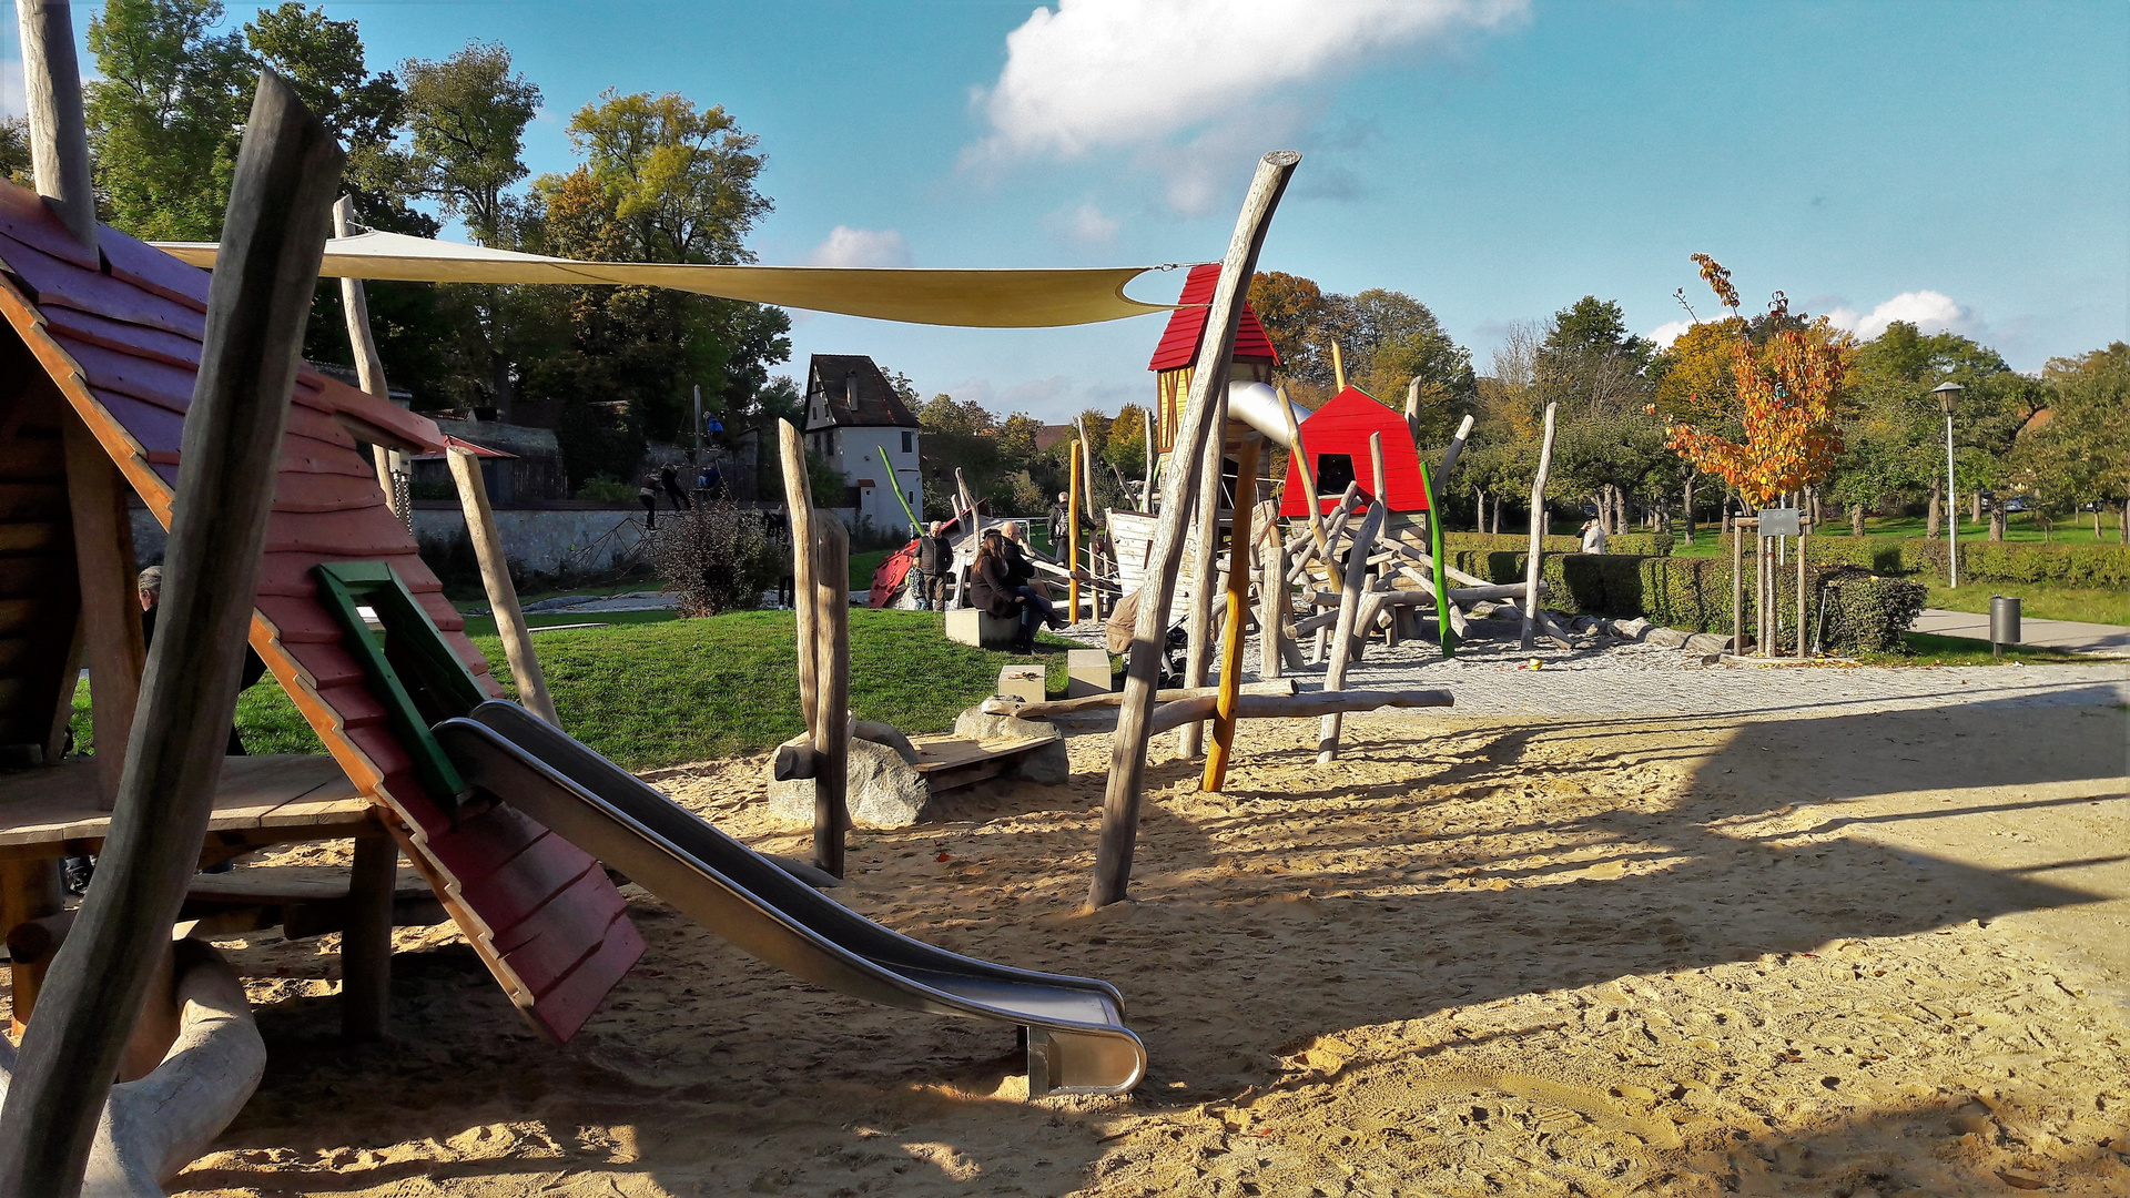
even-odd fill
[[[1242,296],[1257,271],[1257,254],[1265,245],[1272,213],[1295,173],[1301,156],[1282,149],[1267,153],[1250,179],[1235,234],[1220,262],[1220,281],[1206,313],[1203,367],[1191,375],[1191,399],[1178,424],[1180,456],[1169,458],[1169,475],[1161,480],[1161,518],[1154,522],[1154,544],[1142,580],[1140,612],[1131,627],[1131,661],[1125,669],[1125,699],[1116,714],[1116,735],[1110,742],[1110,780],[1101,799],[1101,840],[1095,846],[1095,874],[1088,878],[1088,908],[1120,902],[1131,887],[1131,855],[1140,838],[1140,793],[1146,782],[1146,740],[1152,735],[1154,686],[1161,680],[1161,642],[1169,595],[1176,590],[1176,569],[1182,565],[1184,518],[1191,514],[1191,490],[1197,484],[1197,454],[1208,439],[1214,396],[1227,394],[1229,360],[1235,354],[1235,328],[1242,322]]]

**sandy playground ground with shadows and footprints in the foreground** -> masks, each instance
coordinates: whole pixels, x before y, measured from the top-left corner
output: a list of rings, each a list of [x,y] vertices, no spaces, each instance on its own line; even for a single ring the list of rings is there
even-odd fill
[[[835,891],[1116,983],[1152,1072],[1014,1100],[1005,1027],[801,985],[630,889],[650,942],[567,1049],[445,929],[394,1038],[332,938],[232,942],[266,1083],[183,1194],[2130,1194],[2115,706],[1257,725],[1157,767],[1135,902],[1078,914],[1074,782],[865,831]],[[758,761],[652,776],[763,848]],[[283,859],[320,859],[305,848]]]

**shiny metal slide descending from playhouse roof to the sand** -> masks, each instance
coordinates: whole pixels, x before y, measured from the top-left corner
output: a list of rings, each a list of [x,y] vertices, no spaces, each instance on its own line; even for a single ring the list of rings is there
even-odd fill
[[[1020,1025],[1031,1098],[1125,1094],[1146,1076],[1110,983],[993,966],[882,927],[515,703],[492,699],[432,731],[469,784],[771,966],[882,1006]]]

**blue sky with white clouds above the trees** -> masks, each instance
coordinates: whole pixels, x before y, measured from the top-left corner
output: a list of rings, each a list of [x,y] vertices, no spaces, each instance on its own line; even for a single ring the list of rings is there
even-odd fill
[[[85,26],[98,4],[77,4]],[[249,4],[230,4],[232,21]],[[599,92],[760,136],[763,262],[1218,258],[1255,158],[1301,149],[1263,266],[1425,301],[1485,373],[1583,294],[1657,333],[1687,254],[2019,369],[2130,337],[2130,4],[1698,0],[364,2],[373,68],[507,45],[535,171]],[[0,96],[19,96],[13,21]],[[87,62],[85,62],[87,66]],[[9,107],[15,107],[13,102]],[[1148,275],[1142,298],[1174,298]],[[797,313],[924,394],[1059,418],[1152,390],[1161,318],[954,330]]]

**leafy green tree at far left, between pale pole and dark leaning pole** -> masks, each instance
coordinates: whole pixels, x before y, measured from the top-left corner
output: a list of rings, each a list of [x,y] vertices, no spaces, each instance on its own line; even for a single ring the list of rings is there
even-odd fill
[[[213,34],[219,0],[111,0],[89,19],[83,85],[96,190],[143,239],[222,234],[253,87],[243,34]]]

